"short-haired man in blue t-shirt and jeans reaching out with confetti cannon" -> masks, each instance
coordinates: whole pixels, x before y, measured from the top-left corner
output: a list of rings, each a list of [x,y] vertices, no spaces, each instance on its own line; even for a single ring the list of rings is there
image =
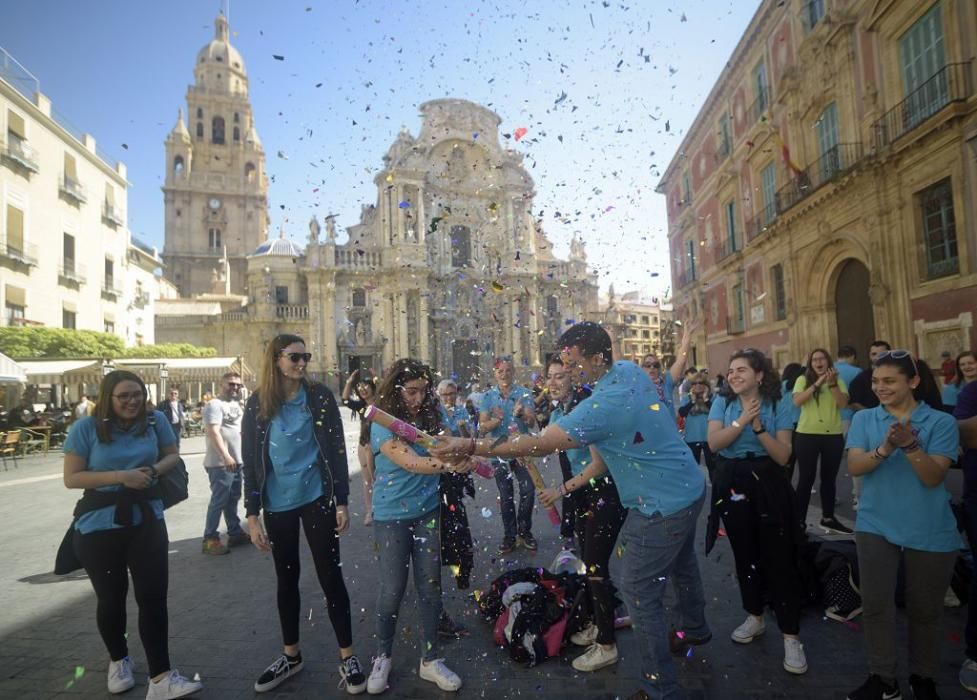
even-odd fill
[[[563,334],[559,346],[574,384],[593,389],[589,398],[539,435],[454,438],[432,453],[445,459],[473,453],[511,459],[584,446],[597,450],[621,503],[630,509],[619,542],[620,588],[638,638],[642,690],[651,698],[672,697],[680,691],[662,602],[669,579],[681,615],[676,627],[696,643],[712,637],[694,548],[705,478],[642,368],[612,361],[607,331],[578,323]],[[559,488],[566,491],[564,484]],[[616,651],[613,655],[609,663],[616,660]]]

